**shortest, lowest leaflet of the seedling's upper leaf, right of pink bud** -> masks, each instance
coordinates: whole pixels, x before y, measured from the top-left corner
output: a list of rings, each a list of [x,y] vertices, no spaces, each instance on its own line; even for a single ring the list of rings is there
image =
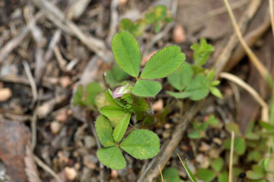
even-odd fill
[[[157,81],[138,80],[131,92],[140,97],[155,97],[161,89],[162,85]]]

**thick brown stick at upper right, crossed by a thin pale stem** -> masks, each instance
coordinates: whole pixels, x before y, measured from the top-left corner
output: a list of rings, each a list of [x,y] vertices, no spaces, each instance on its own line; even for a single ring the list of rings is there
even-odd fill
[[[243,32],[245,32],[249,20],[257,12],[261,3],[262,3],[262,0],[257,0],[257,1],[251,1],[251,3],[248,5],[247,10],[244,12],[243,16],[241,17],[240,23],[239,23],[239,27],[241,28],[241,30]],[[228,62],[229,58],[231,57],[231,53],[232,53],[233,49],[236,47],[238,41],[239,40],[237,38],[237,35],[235,33],[233,33],[230,36],[225,48],[222,50],[217,61],[215,62],[214,67],[216,68],[216,70],[215,70],[216,77],[218,77],[218,74],[220,72],[222,72],[223,69],[225,69],[227,62]]]

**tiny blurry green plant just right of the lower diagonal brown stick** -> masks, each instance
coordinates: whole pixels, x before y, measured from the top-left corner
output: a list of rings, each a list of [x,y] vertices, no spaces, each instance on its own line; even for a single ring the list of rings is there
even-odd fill
[[[218,126],[218,120],[215,118],[214,115],[211,115],[208,121],[198,124],[197,121],[193,123],[193,130],[187,134],[189,139],[201,139],[205,135],[205,131],[209,125],[214,127]]]

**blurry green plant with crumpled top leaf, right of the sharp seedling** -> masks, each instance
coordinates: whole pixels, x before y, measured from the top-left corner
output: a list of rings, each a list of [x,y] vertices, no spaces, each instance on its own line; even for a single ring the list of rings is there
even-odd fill
[[[168,77],[169,83],[179,92],[167,91],[167,93],[177,99],[189,98],[193,101],[205,98],[209,92],[218,98],[222,98],[220,90],[216,87],[220,81],[213,80],[214,68],[206,74],[206,70],[201,67],[206,64],[214,48],[207,43],[206,39],[202,38],[200,44],[191,45],[191,49],[194,51],[195,64],[184,63],[179,70]]]

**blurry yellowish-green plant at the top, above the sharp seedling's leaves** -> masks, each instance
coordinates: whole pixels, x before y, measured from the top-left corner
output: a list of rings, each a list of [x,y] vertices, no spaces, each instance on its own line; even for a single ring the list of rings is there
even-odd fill
[[[141,36],[146,27],[152,25],[154,32],[158,33],[165,23],[171,22],[172,17],[168,16],[167,7],[164,5],[156,6],[154,9],[149,9],[145,14],[144,19],[131,21],[130,19],[123,19],[120,21],[119,30],[127,30],[135,37]]]

